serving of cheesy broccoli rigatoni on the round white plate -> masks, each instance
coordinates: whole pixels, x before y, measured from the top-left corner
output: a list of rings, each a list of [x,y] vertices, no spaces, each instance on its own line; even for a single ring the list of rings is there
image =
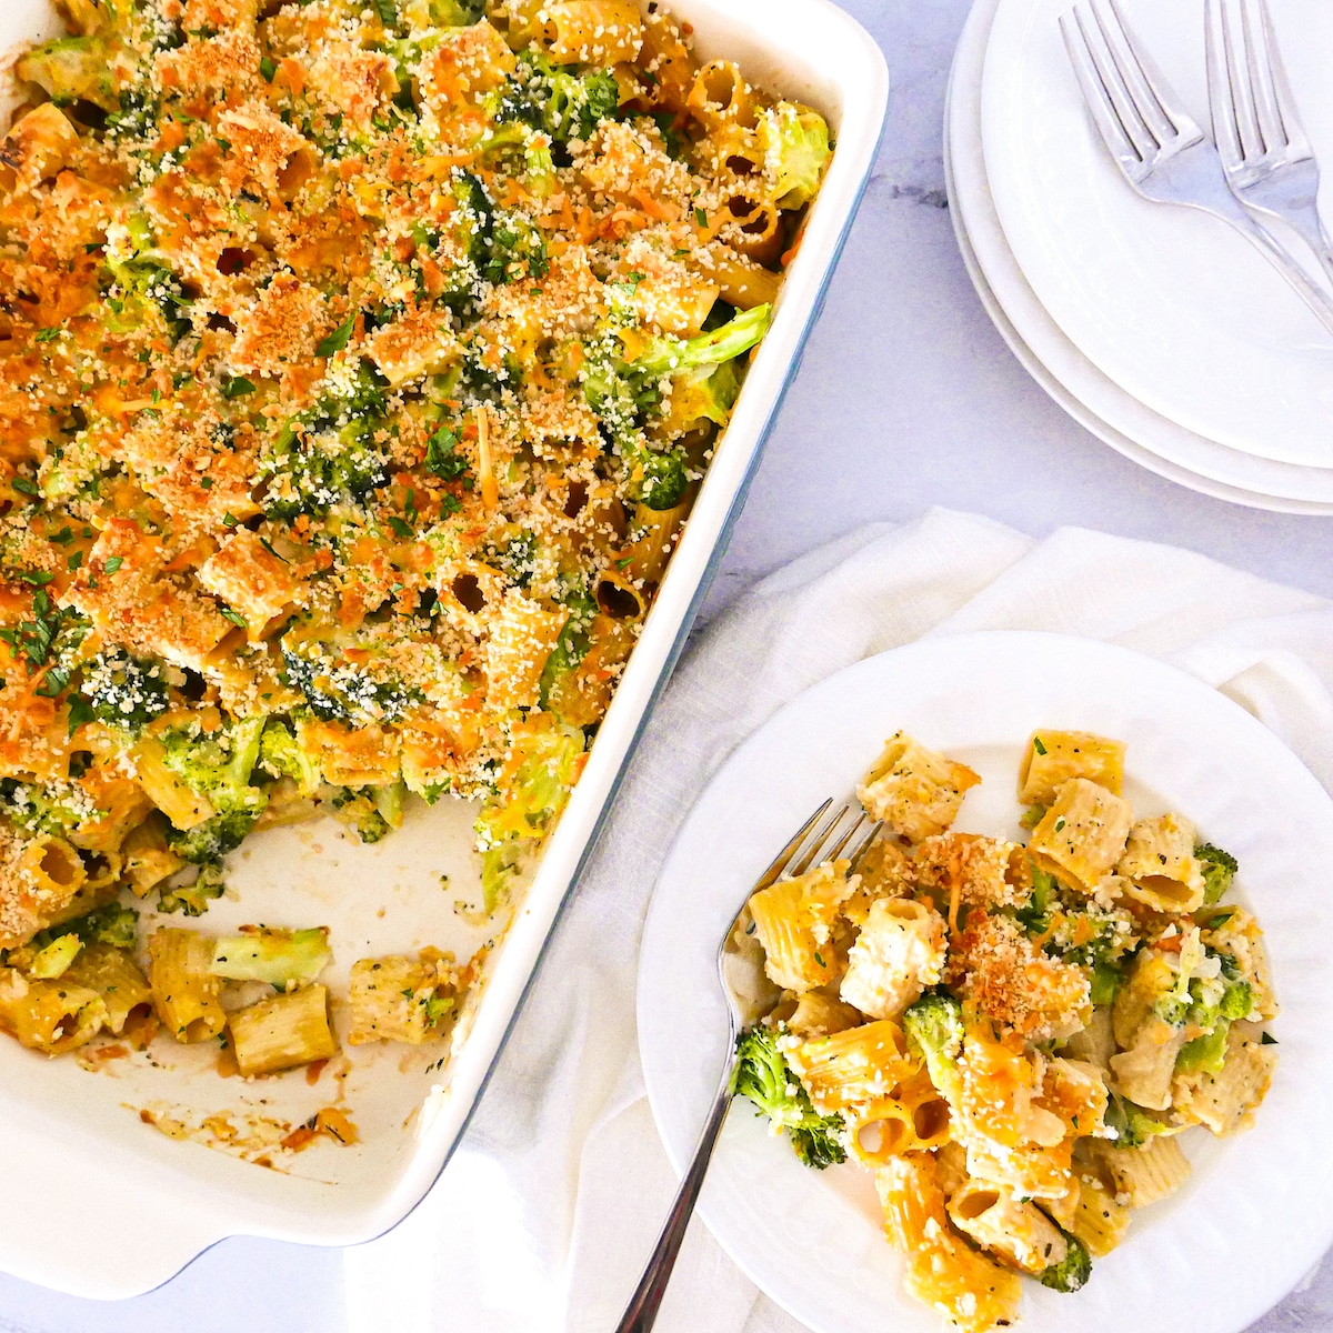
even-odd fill
[[[1182,1136],[1245,1129],[1277,1001],[1237,864],[1122,794],[1125,746],[1038,730],[1025,844],[950,832],[980,777],[897,733],[857,796],[884,830],[749,900],[773,1008],[733,1089],[825,1168],[874,1173],[904,1284],[966,1333],[1021,1276],[1076,1292],[1132,1212],[1189,1177]]]

